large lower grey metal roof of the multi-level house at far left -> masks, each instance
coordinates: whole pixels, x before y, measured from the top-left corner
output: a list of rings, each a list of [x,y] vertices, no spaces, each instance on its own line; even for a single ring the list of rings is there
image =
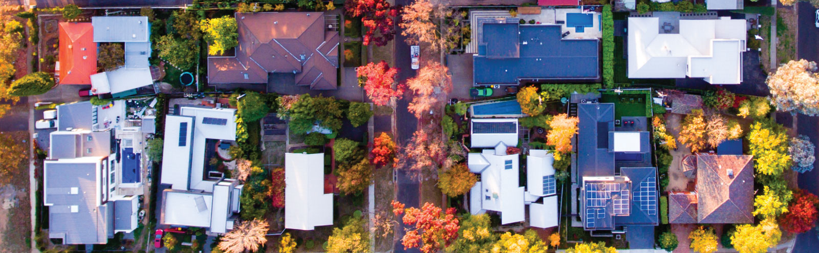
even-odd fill
[[[111,231],[111,210],[97,206],[97,165],[45,163],[45,203],[49,208],[49,232],[64,234],[65,244],[102,244]],[[76,187],[76,194],[71,194]],[[72,212],[71,206],[77,206]]]

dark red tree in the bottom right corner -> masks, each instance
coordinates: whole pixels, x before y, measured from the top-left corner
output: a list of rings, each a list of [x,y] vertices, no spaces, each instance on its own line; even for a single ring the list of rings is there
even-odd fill
[[[790,201],[788,212],[782,215],[779,223],[785,231],[790,233],[805,233],[813,228],[817,220],[817,204],[819,197],[811,192],[800,190],[794,192],[794,199]]]

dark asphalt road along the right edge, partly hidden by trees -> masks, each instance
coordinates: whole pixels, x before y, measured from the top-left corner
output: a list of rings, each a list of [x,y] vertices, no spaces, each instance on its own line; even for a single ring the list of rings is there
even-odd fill
[[[817,9],[808,2],[797,2],[799,5],[799,45],[797,53],[800,59],[808,61],[819,61],[819,28],[814,25]],[[809,117],[798,115],[798,132],[811,138],[814,144],[819,143],[819,117]],[[817,154],[819,157],[819,149]],[[814,169],[799,175],[799,187],[813,194],[819,195],[819,160],[813,163]],[[819,248],[819,237],[817,231],[811,230],[808,233],[799,234],[794,245],[795,253],[816,252]]]

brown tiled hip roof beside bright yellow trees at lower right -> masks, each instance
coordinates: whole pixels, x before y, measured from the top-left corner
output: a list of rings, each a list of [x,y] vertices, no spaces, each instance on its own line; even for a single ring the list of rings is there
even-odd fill
[[[699,223],[753,223],[752,160],[753,156],[697,156]]]

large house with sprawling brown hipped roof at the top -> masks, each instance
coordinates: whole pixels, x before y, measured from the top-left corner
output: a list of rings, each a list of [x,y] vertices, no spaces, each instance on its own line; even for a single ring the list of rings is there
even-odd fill
[[[269,75],[312,89],[336,89],[337,27],[324,12],[236,13],[234,56],[208,57],[210,84],[267,84]],[[277,84],[278,85],[278,84]]]

